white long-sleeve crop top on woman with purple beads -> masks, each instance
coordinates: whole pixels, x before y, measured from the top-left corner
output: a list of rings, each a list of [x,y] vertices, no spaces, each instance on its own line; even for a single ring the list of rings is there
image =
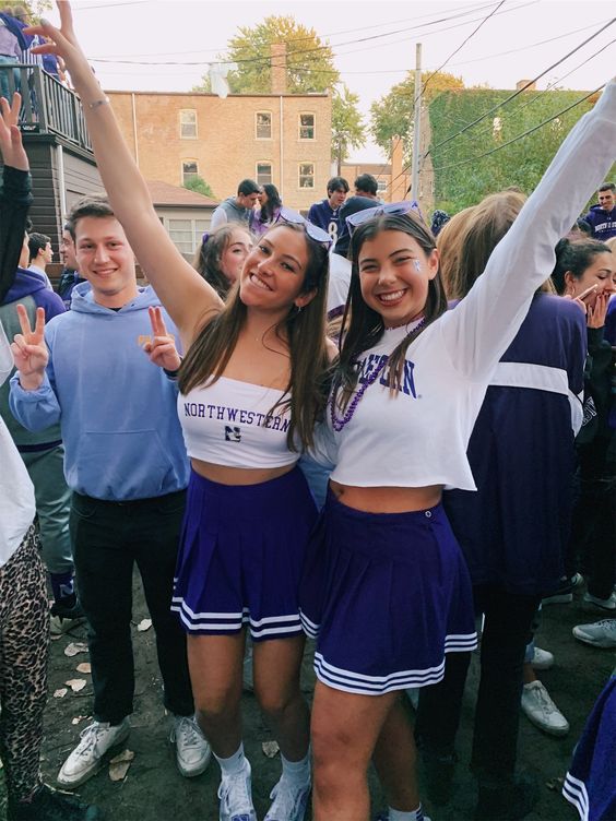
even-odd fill
[[[612,82],[567,136],[467,296],[408,346],[396,394],[383,384],[386,366],[342,430],[333,430],[328,406],[312,455],[322,465],[335,465],[332,479],[356,487],[476,489],[466,448],[490,376],[535,289],[552,273],[556,242],[605,178],[615,147]],[[386,331],[360,355],[359,389],[410,330]],[[336,415],[344,417],[340,408]]]

